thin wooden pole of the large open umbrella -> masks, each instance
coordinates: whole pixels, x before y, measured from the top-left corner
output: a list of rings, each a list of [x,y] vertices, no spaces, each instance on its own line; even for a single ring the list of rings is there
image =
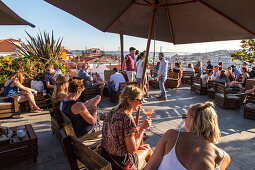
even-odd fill
[[[156,11],[157,11],[157,8],[158,8],[157,4],[158,4],[158,0],[154,0],[154,3],[152,5],[152,16],[151,16],[151,21],[150,21],[150,28],[149,28],[149,32],[148,32],[148,40],[147,40],[146,53],[145,53],[145,59],[144,59],[144,65],[143,65],[143,74],[142,74],[142,80],[141,80],[141,84],[140,84],[140,88],[142,90],[144,89],[144,79],[145,79],[147,61],[148,61],[148,57],[149,57],[152,30],[153,30]],[[138,124],[139,124],[140,110],[141,110],[141,107],[139,107],[139,109],[136,113],[136,120],[135,121],[136,121],[136,126],[137,127],[138,127]]]

